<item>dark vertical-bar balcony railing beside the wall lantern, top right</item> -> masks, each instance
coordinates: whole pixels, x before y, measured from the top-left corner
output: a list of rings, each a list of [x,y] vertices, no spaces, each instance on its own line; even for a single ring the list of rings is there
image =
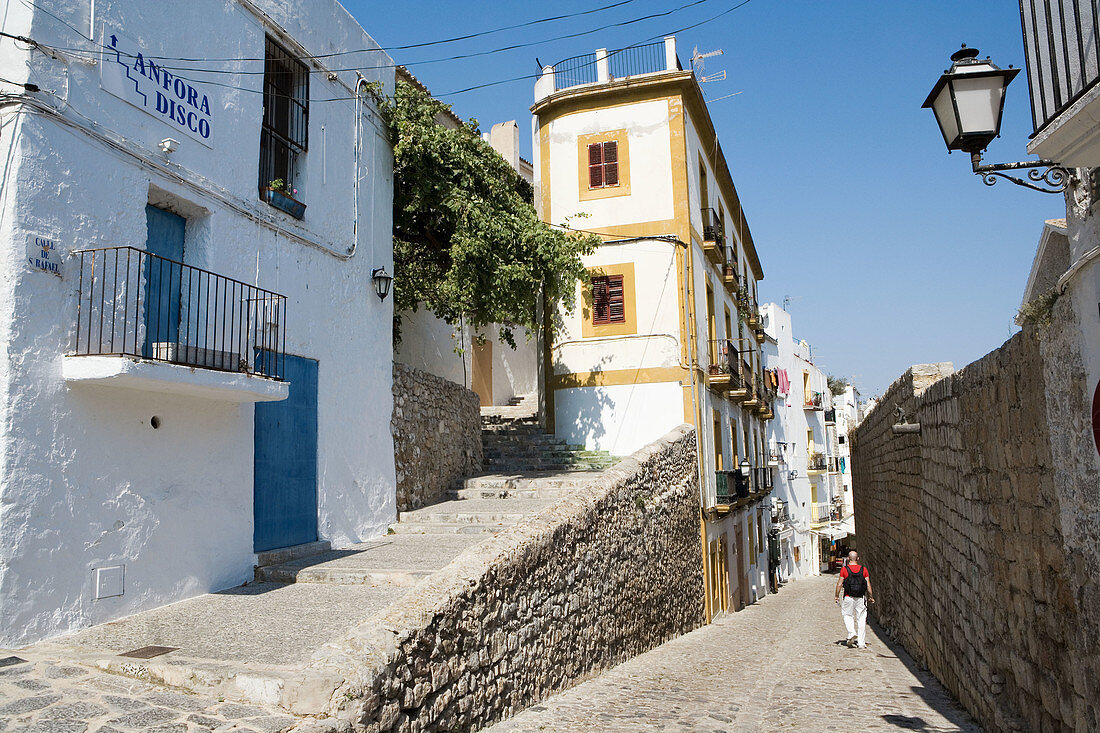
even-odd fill
[[[1098,15],[1096,2],[1020,0],[1036,133],[1100,81]]]

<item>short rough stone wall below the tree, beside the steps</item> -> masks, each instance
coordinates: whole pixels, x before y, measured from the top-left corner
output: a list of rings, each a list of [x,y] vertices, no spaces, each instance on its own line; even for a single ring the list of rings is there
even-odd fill
[[[443,499],[455,479],[482,467],[481,407],[461,384],[394,362],[397,511]]]

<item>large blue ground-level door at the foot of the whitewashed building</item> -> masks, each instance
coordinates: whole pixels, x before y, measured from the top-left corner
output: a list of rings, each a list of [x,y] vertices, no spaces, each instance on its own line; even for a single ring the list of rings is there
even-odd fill
[[[290,396],[256,403],[256,553],[317,539],[317,362],[283,360]]]

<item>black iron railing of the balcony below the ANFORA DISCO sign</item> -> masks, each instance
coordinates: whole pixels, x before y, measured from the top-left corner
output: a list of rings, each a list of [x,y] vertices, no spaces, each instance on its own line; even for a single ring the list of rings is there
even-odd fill
[[[133,247],[80,250],[74,355],[282,380],[286,297]]]

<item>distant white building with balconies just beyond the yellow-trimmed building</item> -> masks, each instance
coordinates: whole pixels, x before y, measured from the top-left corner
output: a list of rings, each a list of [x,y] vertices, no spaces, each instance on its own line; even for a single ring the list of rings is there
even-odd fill
[[[842,510],[833,394],[810,344],[794,339],[791,315],[774,303],[760,313],[765,366],[776,372],[779,385],[768,452],[776,467],[781,573],[784,579],[817,575],[827,568],[833,541],[848,535],[844,517],[851,515],[850,500],[847,515]]]

